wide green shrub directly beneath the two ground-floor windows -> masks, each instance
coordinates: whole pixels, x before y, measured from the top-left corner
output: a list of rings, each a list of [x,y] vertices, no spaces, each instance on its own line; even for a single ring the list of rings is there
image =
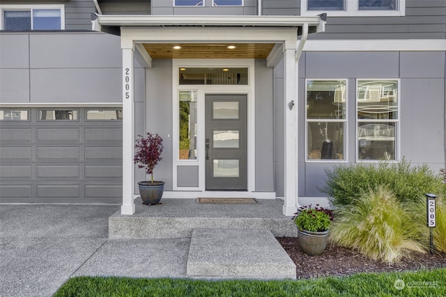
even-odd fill
[[[400,202],[424,197],[424,193],[445,193],[445,184],[440,174],[435,175],[426,164],[410,166],[403,159],[399,163],[382,161],[377,164],[355,163],[326,169],[325,186],[319,190],[328,194],[332,207],[355,203],[369,188],[391,188]]]

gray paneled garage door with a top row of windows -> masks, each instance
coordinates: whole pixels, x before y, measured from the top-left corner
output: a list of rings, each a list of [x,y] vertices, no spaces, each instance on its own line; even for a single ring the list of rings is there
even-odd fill
[[[3,108],[0,202],[122,202],[122,112]]]

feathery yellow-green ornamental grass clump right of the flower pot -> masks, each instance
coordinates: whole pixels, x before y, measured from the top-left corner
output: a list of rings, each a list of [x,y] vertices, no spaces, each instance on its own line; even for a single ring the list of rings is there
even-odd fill
[[[334,210],[330,241],[387,263],[408,252],[424,252],[413,240],[415,223],[392,191],[384,186],[362,193],[355,204]]]

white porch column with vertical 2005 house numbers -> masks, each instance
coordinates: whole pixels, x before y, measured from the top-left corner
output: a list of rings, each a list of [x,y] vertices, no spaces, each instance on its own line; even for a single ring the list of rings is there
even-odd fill
[[[133,40],[121,36],[123,50],[123,205],[121,214],[134,214]]]

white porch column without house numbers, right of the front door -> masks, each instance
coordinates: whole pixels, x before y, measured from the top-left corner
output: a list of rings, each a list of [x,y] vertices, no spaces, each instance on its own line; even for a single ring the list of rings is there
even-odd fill
[[[293,216],[298,205],[298,147],[297,147],[297,113],[298,88],[296,73],[294,42],[284,42],[284,65],[285,65],[285,143],[284,143],[284,170],[285,170],[285,198],[283,212],[285,216]]]

